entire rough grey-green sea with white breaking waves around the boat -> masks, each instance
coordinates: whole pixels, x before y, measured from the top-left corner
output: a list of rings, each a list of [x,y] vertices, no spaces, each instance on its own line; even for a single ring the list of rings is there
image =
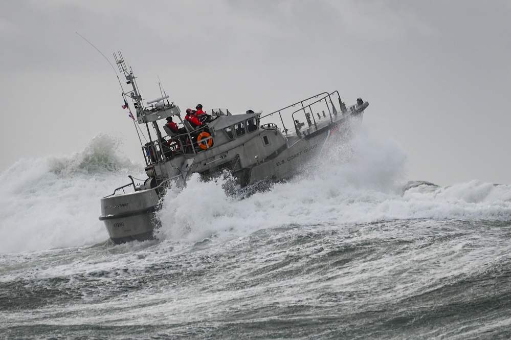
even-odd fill
[[[118,144],[0,175],[0,338],[511,338],[509,186],[407,182],[361,128],[250,195],[194,176],[114,245],[99,198],[144,178]]]

